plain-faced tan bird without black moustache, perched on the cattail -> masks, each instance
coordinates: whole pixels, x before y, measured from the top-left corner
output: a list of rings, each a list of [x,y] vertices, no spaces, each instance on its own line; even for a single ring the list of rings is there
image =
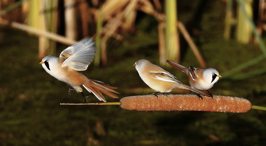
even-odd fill
[[[154,89],[155,93],[161,92],[170,92],[174,88],[179,89],[189,89],[198,94],[202,94],[204,96],[208,96],[207,94],[193,89],[180,81],[178,78],[167,72],[166,70],[158,67],[155,64],[152,64],[150,61],[146,59],[140,59],[135,62],[134,66],[136,67],[140,78],[152,89]]]

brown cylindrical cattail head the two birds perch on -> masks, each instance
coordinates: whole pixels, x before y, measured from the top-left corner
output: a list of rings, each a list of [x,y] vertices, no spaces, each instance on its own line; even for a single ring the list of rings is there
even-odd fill
[[[238,97],[217,96],[203,97],[196,95],[142,95],[124,97],[120,107],[139,111],[209,111],[209,112],[247,112],[251,109],[249,100]]]

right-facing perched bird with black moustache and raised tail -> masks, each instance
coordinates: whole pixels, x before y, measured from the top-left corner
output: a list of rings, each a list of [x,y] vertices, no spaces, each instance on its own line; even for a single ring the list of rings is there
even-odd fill
[[[219,72],[214,68],[207,68],[207,69],[201,69],[201,68],[195,68],[195,67],[189,67],[186,68],[180,64],[177,64],[176,62],[172,62],[170,60],[166,60],[166,62],[173,67],[180,69],[186,75],[189,77],[189,84],[192,88],[197,90],[207,90],[213,87],[214,83],[216,83],[219,79],[219,77],[222,77]],[[213,95],[208,91],[210,94],[210,97],[213,98]]]

